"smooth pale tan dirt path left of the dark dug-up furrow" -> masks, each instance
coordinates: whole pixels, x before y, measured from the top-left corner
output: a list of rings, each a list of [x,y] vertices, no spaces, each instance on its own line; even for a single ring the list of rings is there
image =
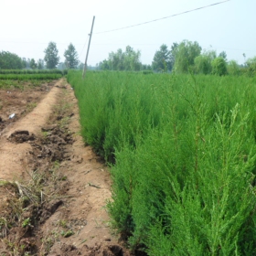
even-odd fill
[[[7,138],[18,130],[29,133],[41,133],[42,126],[47,123],[53,106],[56,104],[61,80],[48,92],[47,97],[37,104],[37,107],[24,118],[13,123],[2,133],[0,141],[0,178],[12,180],[25,177],[27,168],[27,154],[31,151],[30,144],[12,144]]]

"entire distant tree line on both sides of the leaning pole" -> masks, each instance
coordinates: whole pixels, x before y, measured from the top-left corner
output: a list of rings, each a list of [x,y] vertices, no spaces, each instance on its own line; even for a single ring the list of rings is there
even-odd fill
[[[78,59],[78,53],[72,43],[64,52],[65,61],[59,63],[59,50],[55,42],[49,42],[44,50],[44,59],[20,58],[14,53],[0,52],[0,69],[83,69],[83,64]],[[94,69],[140,71],[151,70],[155,72],[216,74],[216,75],[240,75],[246,73],[256,74],[256,57],[247,59],[243,54],[245,63],[239,65],[236,60],[227,59],[227,54],[222,51],[217,54],[216,50],[202,50],[197,41],[183,40],[173,43],[168,48],[163,44],[155,51],[151,65],[141,62],[141,51],[127,46],[123,51],[119,48],[116,52],[110,52],[108,59],[102,60]],[[59,65],[59,66],[58,66]]]

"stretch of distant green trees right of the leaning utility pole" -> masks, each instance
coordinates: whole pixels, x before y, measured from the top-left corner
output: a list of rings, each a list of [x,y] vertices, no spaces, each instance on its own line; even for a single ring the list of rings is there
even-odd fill
[[[245,54],[243,54],[245,58]],[[227,54],[222,51],[217,54],[216,50],[202,50],[197,41],[183,40],[173,43],[168,48],[163,44],[155,51],[151,65],[144,65],[140,61],[141,52],[127,46],[125,51],[119,48],[116,52],[109,53],[108,59],[99,63],[99,69],[103,70],[152,70],[156,72],[216,74],[216,75],[240,75],[241,73],[256,73],[256,57],[247,59],[244,65],[236,60],[227,59]]]

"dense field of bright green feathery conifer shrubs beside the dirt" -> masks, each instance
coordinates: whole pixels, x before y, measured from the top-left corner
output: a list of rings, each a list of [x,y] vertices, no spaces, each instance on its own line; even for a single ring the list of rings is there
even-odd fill
[[[112,227],[147,255],[256,254],[256,79],[88,72],[68,80],[111,166]]]

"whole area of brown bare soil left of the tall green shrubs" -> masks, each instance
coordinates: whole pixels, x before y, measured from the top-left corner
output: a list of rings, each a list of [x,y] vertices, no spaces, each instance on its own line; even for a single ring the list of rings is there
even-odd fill
[[[80,136],[66,80],[1,90],[0,103],[0,255],[132,255],[110,227],[110,174]]]

